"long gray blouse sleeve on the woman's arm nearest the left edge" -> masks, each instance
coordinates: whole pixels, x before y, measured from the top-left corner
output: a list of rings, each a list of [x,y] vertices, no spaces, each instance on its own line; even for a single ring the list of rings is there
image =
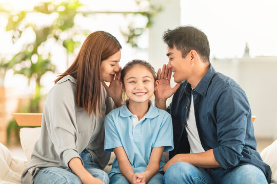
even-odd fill
[[[59,85],[68,85],[68,83],[64,82]],[[76,149],[75,98],[73,92],[68,90],[69,85],[68,88],[59,85],[48,94],[44,118],[54,149],[68,167],[68,162],[73,157],[81,158]]]

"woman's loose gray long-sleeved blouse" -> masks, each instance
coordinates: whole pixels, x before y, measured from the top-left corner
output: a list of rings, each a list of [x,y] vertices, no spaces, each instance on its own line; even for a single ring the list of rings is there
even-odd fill
[[[87,148],[92,162],[103,169],[110,158],[104,151],[104,119],[115,108],[101,84],[101,113],[97,116],[77,105],[76,79],[67,75],[50,90],[43,111],[42,131],[34,146],[32,159],[22,174],[22,183],[33,183],[39,168],[68,169],[68,162]],[[31,135],[30,135],[31,136]],[[82,160],[82,159],[81,159]]]

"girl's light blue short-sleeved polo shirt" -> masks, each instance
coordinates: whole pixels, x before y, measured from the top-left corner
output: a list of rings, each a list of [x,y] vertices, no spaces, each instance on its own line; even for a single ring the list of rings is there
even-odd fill
[[[133,116],[126,104],[112,110],[105,118],[104,150],[112,152],[113,148],[123,146],[134,173],[144,172],[153,147],[165,146],[164,151],[173,150],[173,129],[170,114],[152,105],[145,117],[134,126]],[[160,162],[160,170],[165,165]],[[121,173],[115,158],[109,177]]]

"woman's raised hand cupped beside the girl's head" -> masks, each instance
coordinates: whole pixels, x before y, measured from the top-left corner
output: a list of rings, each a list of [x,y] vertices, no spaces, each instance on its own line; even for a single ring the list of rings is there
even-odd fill
[[[115,73],[115,78],[110,82],[109,86],[107,86],[107,84],[104,81],[101,81],[103,86],[107,90],[108,96],[112,98],[116,107],[120,107],[123,105],[120,76],[121,67],[120,70]]]

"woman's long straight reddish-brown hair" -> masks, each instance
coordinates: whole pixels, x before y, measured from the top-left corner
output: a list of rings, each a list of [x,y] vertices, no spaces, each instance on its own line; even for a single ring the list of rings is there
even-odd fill
[[[55,80],[55,83],[57,83],[66,75],[70,75],[77,80],[77,104],[87,110],[89,116],[92,111],[96,116],[97,106],[100,116],[102,116],[100,110],[101,62],[121,49],[121,44],[110,33],[95,31],[88,35],[75,61],[67,71]]]

